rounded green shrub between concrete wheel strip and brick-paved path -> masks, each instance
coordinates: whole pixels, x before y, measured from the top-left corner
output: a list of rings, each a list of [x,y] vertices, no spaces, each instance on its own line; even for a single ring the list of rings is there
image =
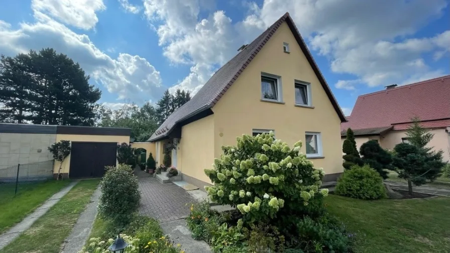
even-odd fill
[[[138,178],[133,176],[130,166],[119,165],[107,170],[100,182],[99,214],[118,223],[129,222],[139,207],[138,187]]]

